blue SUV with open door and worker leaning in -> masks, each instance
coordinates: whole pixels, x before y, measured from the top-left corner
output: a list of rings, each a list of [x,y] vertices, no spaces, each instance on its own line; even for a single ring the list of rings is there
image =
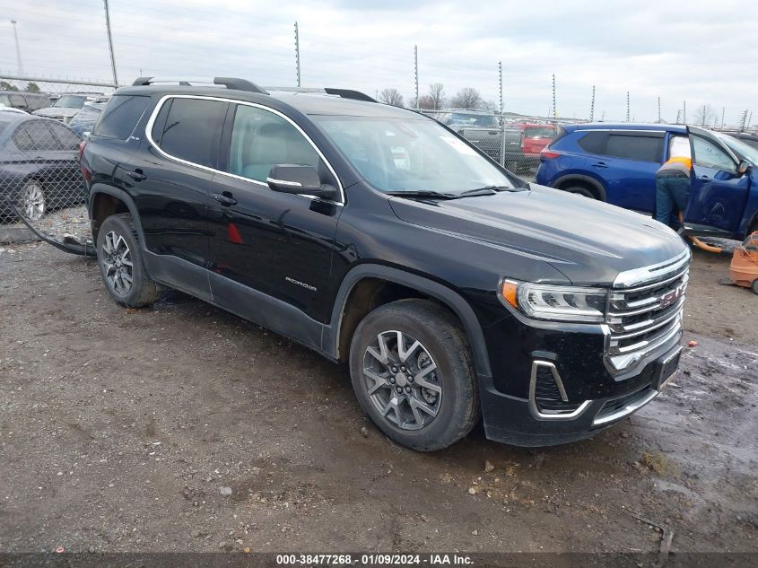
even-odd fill
[[[758,231],[758,151],[698,127],[564,126],[540,155],[536,182],[652,214],[656,171],[683,155],[693,158],[686,232],[743,239]]]

